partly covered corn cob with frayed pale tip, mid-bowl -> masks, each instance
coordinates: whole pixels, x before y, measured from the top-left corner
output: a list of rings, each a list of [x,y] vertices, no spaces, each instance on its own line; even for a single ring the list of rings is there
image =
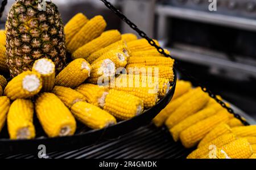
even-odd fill
[[[76,91],[85,96],[88,103],[100,107],[100,99],[104,98],[109,92],[109,88],[98,86],[96,84],[81,84]]]

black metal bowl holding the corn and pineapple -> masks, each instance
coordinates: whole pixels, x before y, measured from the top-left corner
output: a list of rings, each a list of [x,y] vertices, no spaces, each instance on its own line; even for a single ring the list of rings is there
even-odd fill
[[[93,145],[104,139],[116,139],[123,134],[129,133],[141,126],[147,125],[166,105],[171,101],[174,95],[177,73],[174,69],[174,82],[172,88],[163,99],[158,103],[144,111],[142,114],[126,121],[119,121],[116,125],[109,126],[105,129],[91,130],[85,128],[84,125],[78,124],[77,131],[69,137],[47,138],[38,120],[35,119],[36,138],[30,140],[10,140],[8,139],[7,128],[5,127],[0,137],[0,154],[32,154],[39,151],[39,145],[45,145],[47,152],[67,151],[81,148],[83,146]]]

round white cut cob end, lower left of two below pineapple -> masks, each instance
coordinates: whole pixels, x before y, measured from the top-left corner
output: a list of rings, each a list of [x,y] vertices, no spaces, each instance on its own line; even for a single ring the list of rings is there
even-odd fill
[[[40,80],[36,75],[27,75],[22,81],[22,87],[28,92],[34,92],[40,87]]]

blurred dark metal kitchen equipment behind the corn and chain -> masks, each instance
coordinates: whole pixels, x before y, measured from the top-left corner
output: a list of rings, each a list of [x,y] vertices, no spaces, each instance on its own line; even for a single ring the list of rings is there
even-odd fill
[[[212,91],[256,118],[256,0],[216,1],[217,11],[209,11],[208,0],[110,2]],[[13,2],[8,2],[2,28]],[[82,12],[88,18],[104,15],[108,29],[133,32],[99,0],[53,2],[64,23]]]

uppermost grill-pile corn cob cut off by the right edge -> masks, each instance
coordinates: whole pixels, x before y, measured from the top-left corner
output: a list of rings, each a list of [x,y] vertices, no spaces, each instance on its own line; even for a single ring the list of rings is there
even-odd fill
[[[256,137],[256,125],[239,126],[239,127],[232,128],[232,131],[238,137],[248,137],[248,136]]]

